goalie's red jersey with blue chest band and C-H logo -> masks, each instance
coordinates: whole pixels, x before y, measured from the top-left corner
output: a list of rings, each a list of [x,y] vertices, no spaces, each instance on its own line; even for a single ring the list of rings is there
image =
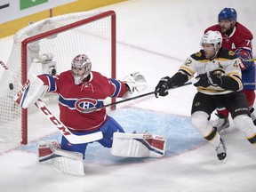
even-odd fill
[[[48,92],[60,95],[60,121],[72,131],[92,132],[100,128],[108,118],[106,108],[83,113],[85,108],[99,108],[108,97],[123,97],[126,85],[92,71],[82,84],[74,84],[71,70],[59,76],[38,76],[49,86]]]

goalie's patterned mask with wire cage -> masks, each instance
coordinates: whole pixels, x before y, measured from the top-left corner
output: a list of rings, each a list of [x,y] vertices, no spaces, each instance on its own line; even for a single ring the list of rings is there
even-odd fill
[[[77,55],[71,63],[72,76],[74,76],[75,84],[81,84],[91,73],[92,63],[85,54]]]

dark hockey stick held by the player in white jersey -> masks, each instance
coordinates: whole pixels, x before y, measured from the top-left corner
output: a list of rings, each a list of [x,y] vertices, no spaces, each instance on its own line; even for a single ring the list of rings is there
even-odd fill
[[[191,83],[191,82],[188,82],[188,83],[182,84],[182,85],[180,85],[180,86],[174,86],[174,87],[172,87],[172,88],[170,88],[170,89],[175,89],[175,88],[178,88],[178,87],[181,87],[181,86],[185,86],[185,85],[188,85],[188,84],[192,84],[192,83]],[[169,89],[169,90],[170,90],[170,89]],[[156,93],[156,91],[154,91],[154,92],[147,92],[147,93],[145,93],[145,94],[141,94],[141,95],[138,95],[138,96],[135,96],[135,97],[126,99],[126,100],[119,100],[119,101],[114,102],[114,103],[109,103],[108,105],[101,106],[100,108],[108,108],[108,107],[110,107],[110,106],[117,105],[117,104],[119,104],[119,103],[127,102],[127,101],[129,101],[129,100],[136,100],[136,99],[139,99],[139,98],[142,98],[142,97],[151,95],[151,94],[155,94],[155,93]],[[91,113],[91,112],[93,112],[93,111],[95,111],[95,110],[99,110],[100,108],[95,108],[95,107],[94,107],[94,108],[85,108],[84,111],[83,111],[83,113]]]

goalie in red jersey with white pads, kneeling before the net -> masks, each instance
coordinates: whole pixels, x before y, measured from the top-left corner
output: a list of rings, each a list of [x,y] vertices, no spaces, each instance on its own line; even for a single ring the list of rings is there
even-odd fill
[[[48,162],[60,172],[84,175],[83,159],[89,143],[97,141],[105,148],[112,148],[113,156],[162,157],[165,138],[150,133],[124,133],[123,127],[108,116],[106,108],[101,108],[108,97],[124,98],[127,94],[142,92],[147,87],[144,76],[134,72],[123,81],[102,76],[92,71],[92,63],[85,54],[78,54],[71,60],[70,69],[60,75],[29,75],[28,82],[18,92],[15,101],[22,108],[34,105],[44,97],[45,92],[59,95],[60,120],[68,135],[63,134],[59,144],[45,141],[38,145],[39,162]],[[84,113],[85,109],[96,108]],[[98,108],[98,109],[97,109]],[[44,112],[44,115],[49,115]],[[50,119],[51,120],[51,119]],[[60,129],[60,128],[59,128]],[[62,129],[62,128],[61,128]],[[90,141],[81,140],[97,133]],[[100,133],[100,134],[98,134]],[[99,136],[100,135],[100,136]],[[71,136],[76,140],[69,140]]]

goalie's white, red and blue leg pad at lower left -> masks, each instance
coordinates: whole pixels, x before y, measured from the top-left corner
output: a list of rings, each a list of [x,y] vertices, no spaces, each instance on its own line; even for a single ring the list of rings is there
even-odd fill
[[[58,172],[84,176],[83,154],[60,149],[57,141],[43,140],[38,142],[38,161],[48,163]]]

